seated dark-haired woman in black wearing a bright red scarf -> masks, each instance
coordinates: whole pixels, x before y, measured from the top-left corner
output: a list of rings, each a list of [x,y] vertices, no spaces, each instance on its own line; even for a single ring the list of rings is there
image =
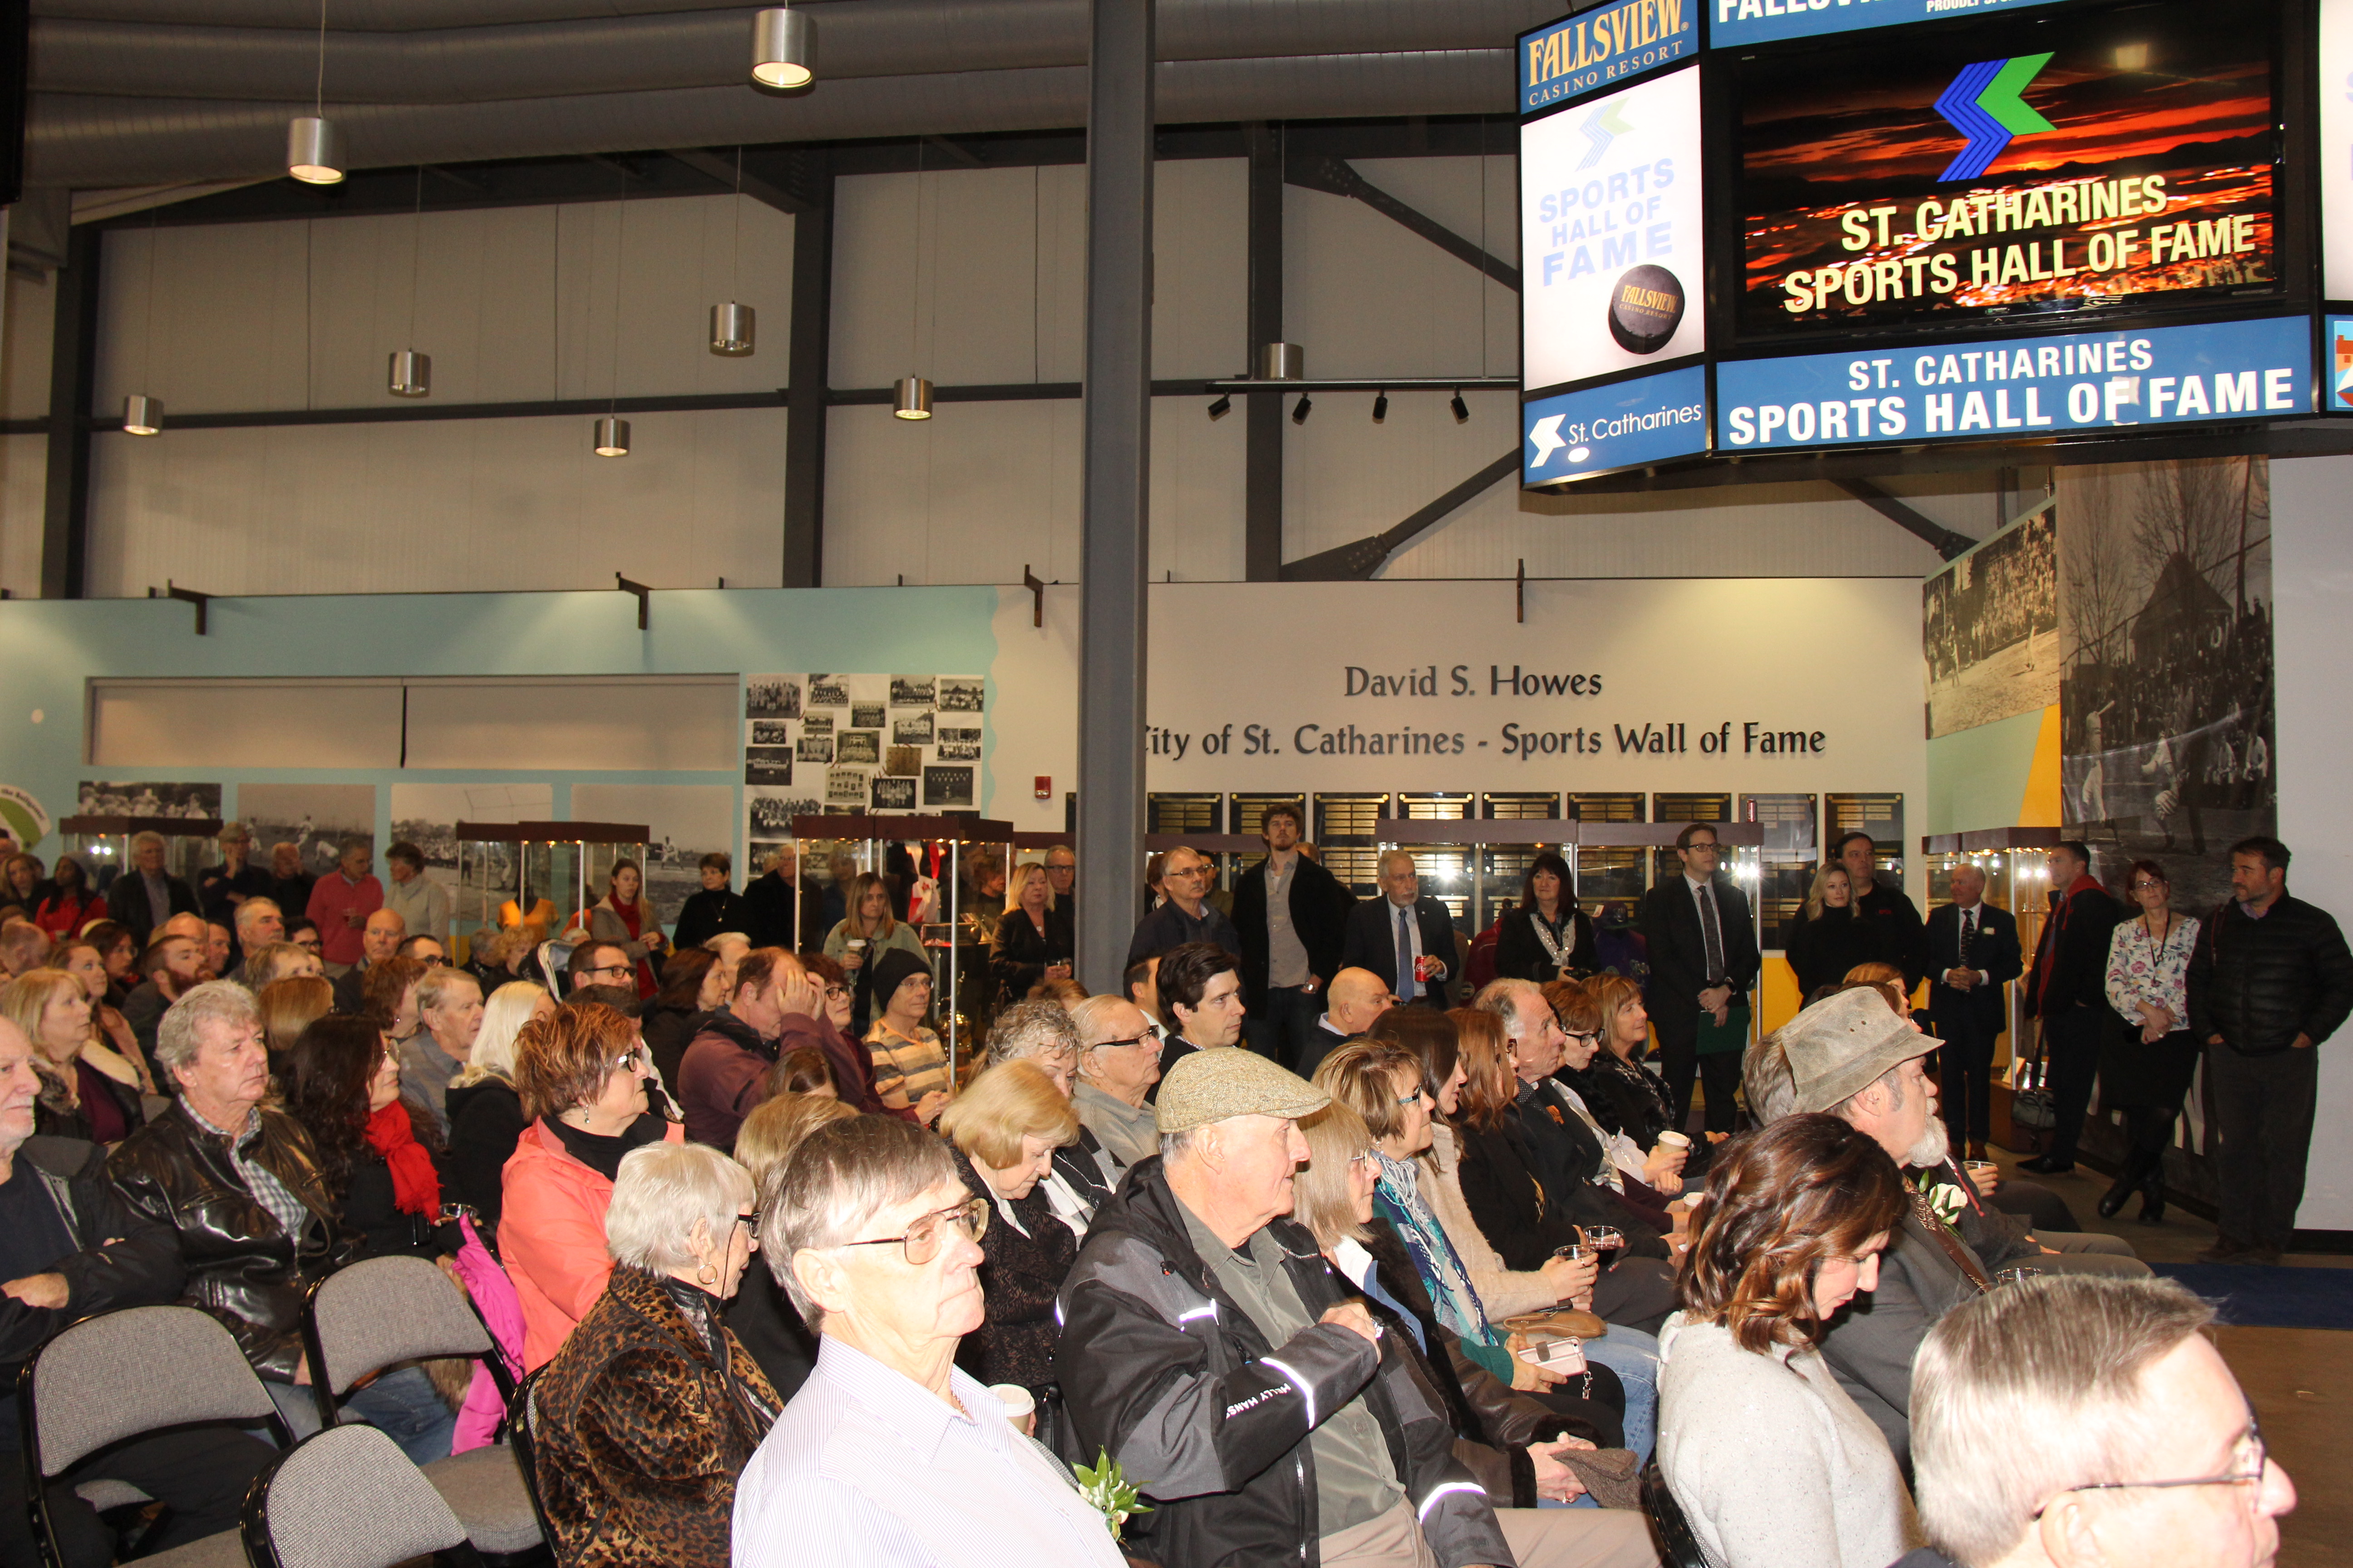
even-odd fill
[[[424,1105],[400,1093],[400,1060],[365,1018],[329,1013],[304,1030],[294,1041],[287,1110],[311,1135],[344,1244],[339,1262],[456,1251],[456,1227],[440,1225],[440,1128]],[[449,1458],[456,1410],[442,1403],[421,1366],[379,1373],[358,1399],[365,1399],[367,1420],[414,1462]]]

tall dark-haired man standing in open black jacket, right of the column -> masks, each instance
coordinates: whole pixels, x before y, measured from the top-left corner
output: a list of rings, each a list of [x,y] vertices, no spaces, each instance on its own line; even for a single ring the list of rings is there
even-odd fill
[[[1315,1044],[1325,987],[1339,973],[1341,929],[1355,893],[1299,853],[1299,806],[1282,802],[1259,818],[1266,858],[1233,884],[1233,929],[1242,938],[1245,1037],[1271,1063],[1292,1065]]]

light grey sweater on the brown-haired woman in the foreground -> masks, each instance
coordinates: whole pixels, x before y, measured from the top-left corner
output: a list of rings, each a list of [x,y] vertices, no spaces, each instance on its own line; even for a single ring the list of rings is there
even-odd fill
[[[1887,1439],[1812,1349],[1659,1331],[1659,1472],[1718,1568],[1887,1568],[1920,1544]]]

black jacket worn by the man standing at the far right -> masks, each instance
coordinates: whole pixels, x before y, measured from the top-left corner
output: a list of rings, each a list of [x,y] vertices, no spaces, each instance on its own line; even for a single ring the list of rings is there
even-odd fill
[[[2191,1034],[2240,1056],[2273,1056],[2297,1034],[2318,1046],[2353,1013],[2353,952],[2337,919],[2280,896],[2264,919],[2226,903],[2198,926],[2188,973]]]

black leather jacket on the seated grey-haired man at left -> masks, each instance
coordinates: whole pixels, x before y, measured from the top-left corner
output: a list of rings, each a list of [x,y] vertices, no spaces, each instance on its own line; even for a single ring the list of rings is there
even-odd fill
[[[311,1211],[299,1237],[247,1190],[228,1138],[200,1128],[176,1100],[115,1145],[106,1173],[129,1208],[176,1232],[188,1265],[181,1300],[228,1324],[256,1373],[294,1382],[304,1291],[344,1262],[341,1241],[311,1135],[285,1112],[264,1107],[254,1117],[261,1133],[247,1157]]]

